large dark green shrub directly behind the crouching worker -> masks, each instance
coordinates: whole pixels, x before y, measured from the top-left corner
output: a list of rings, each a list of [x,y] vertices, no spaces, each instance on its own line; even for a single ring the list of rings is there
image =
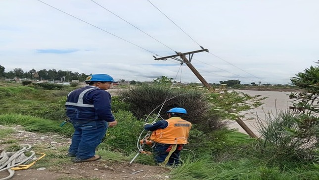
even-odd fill
[[[149,114],[159,114],[163,118],[166,112],[174,107],[182,107],[187,111],[183,116],[191,123],[211,131],[225,125],[219,116],[209,112],[211,106],[203,96],[204,90],[173,89],[165,85],[142,85],[123,90],[119,98],[130,105],[130,110],[138,119]],[[163,105],[164,103],[164,105]]]

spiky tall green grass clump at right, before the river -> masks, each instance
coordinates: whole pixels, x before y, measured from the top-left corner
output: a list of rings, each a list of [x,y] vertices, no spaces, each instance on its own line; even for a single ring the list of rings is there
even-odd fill
[[[269,114],[265,120],[257,118],[257,125],[261,140],[259,151],[263,153],[270,162],[303,162],[313,160],[316,156],[318,144],[314,138],[302,138],[293,135],[288,129],[297,129],[298,115],[287,110],[279,111],[276,115]]]

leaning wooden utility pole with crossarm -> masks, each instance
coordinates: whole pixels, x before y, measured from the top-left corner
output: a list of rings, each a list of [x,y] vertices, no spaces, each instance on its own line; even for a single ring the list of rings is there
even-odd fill
[[[201,46],[200,46],[201,47]],[[214,88],[212,86],[210,86],[208,84],[208,82],[203,78],[202,75],[200,75],[200,73],[195,69],[195,67],[190,63],[191,59],[193,58],[194,53],[200,53],[203,51],[208,52],[208,49],[204,49],[203,47],[201,47],[202,50],[197,50],[197,51],[192,51],[192,52],[187,52],[187,53],[179,53],[179,52],[175,52],[176,55],[172,55],[172,56],[167,56],[167,57],[162,57],[162,58],[156,58],[155,56],[153,56],[155,58],[155,60],[167,60],[168,58],[171,58],[173,60],[178,60],[181,63],[186,63],[186,65],[190,68],[190,70],[196,75],[196,77],[200,80],[200,82],[202,82],[209,90]],[[187,60],[187,58],[185,57],[185,55],[189,56],[189,60]],[[180,57],[182,60],[176,58],[176,57]],[[228,113],[234,113],[231,109],[228,110]],[[247,132],[247,134],[250,137],[253,138],[258,138],[258,136],[252,131],[250,130],[250,128],[239,118],[237,117],[236,122]]]

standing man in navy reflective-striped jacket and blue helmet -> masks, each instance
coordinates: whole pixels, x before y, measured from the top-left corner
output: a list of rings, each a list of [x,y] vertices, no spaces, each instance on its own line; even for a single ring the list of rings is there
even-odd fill
[[[66,116],[75,132],[67,156],[75,157],[75,163],[96,161],[95,148],[105,136],[107,127],[117,124],[111,112],[111,95],[108,93],[114,79],[107,74],[93,74],[87,77],[85,86],[68,94]]]

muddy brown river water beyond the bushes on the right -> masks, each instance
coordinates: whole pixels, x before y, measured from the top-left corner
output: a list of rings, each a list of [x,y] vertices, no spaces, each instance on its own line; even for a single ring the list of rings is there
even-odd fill
[[[276,110],[284,111],[292,104],[291,100],[289,99],[290,92],[250,90],[240,90],[240,92],[243,92],[250,96],[261,95],[262,97],[267,97],[266,100],[262,101],[265,104],[263,104],[259,108],[245,111],[240,114],[245,116],[245,118],[242,118],[242,120],[257,136],[259,136],[259,132],[256,123],[256,116],[258,116],[262,120],[265,120],[265,113],[267,114],[270,112],[275,114]],[[239,132],[246,133],[236,121],[229,123],[228,127],[235,128]]]

